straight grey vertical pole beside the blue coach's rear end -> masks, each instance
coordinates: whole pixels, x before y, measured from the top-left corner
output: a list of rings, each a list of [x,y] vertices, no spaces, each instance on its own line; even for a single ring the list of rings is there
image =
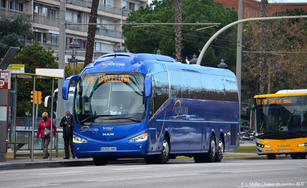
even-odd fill
[[[243,0],[239,0],[238,20],[242,20]],[[237,38],[237,66],[236,77],[239,93],[239,119],[241,117],[241,61],[242,61],[242,23],[238,24],[238,38]]]

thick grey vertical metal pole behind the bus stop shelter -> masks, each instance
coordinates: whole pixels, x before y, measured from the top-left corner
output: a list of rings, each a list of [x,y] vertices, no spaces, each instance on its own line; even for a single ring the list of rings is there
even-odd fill
[[[59,41],[59,69],[64,69],[65,75],[65,13],[66,13],[66,0],[60,0],[60,41]],[[65,77],[63,75],[63,77]],[[58,79],[58,98],[57,98],[57,116],[61,117],[64,112],[64,100],[62,96],[62,87],[63,87],[64,79]],[[51,94],[53,96],[53,93]],[[52,101],[53,103],[53,101]],[[53,113],[53,109],[51,109]]]

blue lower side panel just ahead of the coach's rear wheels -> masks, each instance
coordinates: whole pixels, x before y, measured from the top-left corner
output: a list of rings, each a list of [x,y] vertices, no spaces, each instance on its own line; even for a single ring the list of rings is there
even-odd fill
[[[202,148],[202,122],[190,122],[189,153],[199,153]]]

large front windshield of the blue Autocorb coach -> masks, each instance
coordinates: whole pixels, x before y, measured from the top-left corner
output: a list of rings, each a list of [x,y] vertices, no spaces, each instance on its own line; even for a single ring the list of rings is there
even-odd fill
[[[130,72],[82,75],[76,85],[76,123],[105,126],[144,121],[144,79],[144,74]]]

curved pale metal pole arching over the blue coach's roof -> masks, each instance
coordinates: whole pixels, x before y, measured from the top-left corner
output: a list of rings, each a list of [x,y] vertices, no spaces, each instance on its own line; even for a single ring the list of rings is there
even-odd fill
[[[226,25],[225,27],[223,27],[222,29],[220,29],[218,32],[216,32],[208,41],[207,43],[204,45],[204,48],[201,50],[198,59],[197,59],[197,65],[200,65],[201,59],[204,56],[204,53],[206,52],[207,48],[209,47],[209,45],[212,43],[212,41],[219,36],[221,33],[223,33],[223,31],[225,31],[226,29],[234,26],[234,25],[238,25],[239,23],[243,23],[243,22],[247,22],[247,21],[258,21],[258,20],[280,20],[280,19],[293,19],[293,18],[307,18],[307,15],[304,16],[280,16],[280,17],[256,17],[256,18],[247,18],[244,20],[238,20],[235,22],[232,22],[231,24]]]

